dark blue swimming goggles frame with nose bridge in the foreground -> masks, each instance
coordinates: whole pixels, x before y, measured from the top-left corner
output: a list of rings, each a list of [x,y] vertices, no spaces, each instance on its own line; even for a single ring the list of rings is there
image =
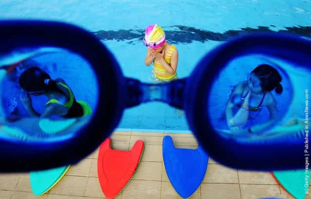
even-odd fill
[[[199,145],[219,163],[238,169],[264,171],[297,169],[306,165],[306,157],[310,155],[304,144],[308,138],[308,129],[301,136],[282,132],[272,137],[264,135],[273,130],[270,126],[258,134],[256,129],[252,129],[255,137],[249,131],[245,135],[222,133],[212,122],[215,118],[210,113],[210,100],[214,97],[213,93],[217,97],[217,93],[222,91],[215,84],[226,81],[225,77],[230,75],[223,74],[226,67],[236,58],[252,54],[282,60],[280,63],[293,65],[293,71],[306,70],[306,79],[310,78],[309,39],[284,34],[237,37],[205,54],[187,78],[147,84],[124,77],[115,57],[105,45],[79,27],[59,22],[14,20],[0,21],[0,30],[0,54],[13,52],[17,48],[36,47],[55,47],[79,54],[90,63],[96,74],[99,92],[93,114],[73,136],[34,142],[0,137],[1,172],[48,169],[78,163],[111,135],[125,109],[150,101],[164,102],[183,109]],[[242,67],[238,67],[238,70],[242,70]],[[311,88],[309,83],[304,86],[306,90]],[[290,92],[291,84],[288,89]],[[299,89],[293,87],[293,92],[287,96],[293,97]],[[292,108],[292,100],[288,102],[288,107],[283,107],[285,111]],[[214,113],[219,112],[217,110]],[[81,121],[84,119],[81,118]],[[274,121],[273,127],[275,125]]]

